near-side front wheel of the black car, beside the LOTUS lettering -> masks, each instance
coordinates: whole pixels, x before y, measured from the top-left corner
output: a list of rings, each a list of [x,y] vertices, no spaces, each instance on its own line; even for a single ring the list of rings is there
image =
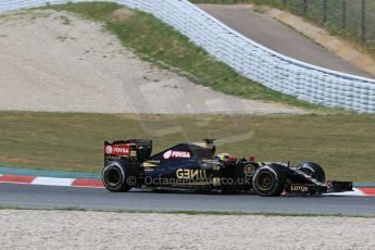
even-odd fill
[[[285,189],[286,175],[284,170],[276,165],[265,165],[255,171],[252,184],[260,196],[280,196]]]

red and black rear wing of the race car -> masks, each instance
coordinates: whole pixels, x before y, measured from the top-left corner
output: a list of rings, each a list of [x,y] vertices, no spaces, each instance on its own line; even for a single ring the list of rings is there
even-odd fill
[[[130,139],[104,141],[104,164],[109,161],[134,159],[140,162],[150,158],[152,152],[152,140]]]

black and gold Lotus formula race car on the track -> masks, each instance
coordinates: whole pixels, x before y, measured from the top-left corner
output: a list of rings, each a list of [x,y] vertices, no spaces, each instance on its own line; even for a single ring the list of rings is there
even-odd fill
[[[327,182],[313,162],[255,162],[254,158],[215,155],[213,139],[179,143],[151,157],[152,141],[104,142],[102,180],[110,191],[132,188],[199,189],[221,192],[254,191],[260,196],[318,195],[351,191],[350,182]]]

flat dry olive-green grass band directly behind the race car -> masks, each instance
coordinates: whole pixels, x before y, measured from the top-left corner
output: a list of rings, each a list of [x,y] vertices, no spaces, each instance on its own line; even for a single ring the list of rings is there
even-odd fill
[[[0,165],[100,172],[103,140],[150,138],[153,152],[216,138],[217,152],[313,160],[328,178],[375,182],[374,115],[126,115],[0,112]]]

